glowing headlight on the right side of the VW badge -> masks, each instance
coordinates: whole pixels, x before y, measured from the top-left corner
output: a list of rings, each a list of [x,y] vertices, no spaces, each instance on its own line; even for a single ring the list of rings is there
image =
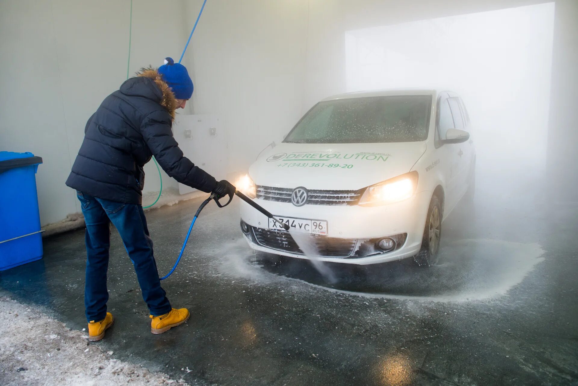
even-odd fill
[[[409,172],[368,187],[359,205],[385,205],[410,198],[417,188],[417,172]]]

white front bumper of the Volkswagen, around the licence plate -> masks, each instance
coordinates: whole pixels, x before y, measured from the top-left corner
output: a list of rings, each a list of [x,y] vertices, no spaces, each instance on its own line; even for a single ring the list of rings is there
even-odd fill
[[[291,203],[264,201],[255,199],[259,205],[273,213],[275,216],[309,218],[312,220],[326,220],[328,222],[328,234],[331,239],[343,239],[344,246],[348,246],[349,240],[378,239],[380,237],[398,236],[406,234],[405,242],[401,247],[390,252],[372,254],[367,257],[327,257],[318,259],[327,262],[373,264],[394,261],[411,257],[421,248],[423,239],[425,217],[431,200],[431,192],[423,191],[411,198],[390,205],[383,206],[324,206],[305,205],[297,207]],[[241,220],[247,225],[258,230],[268,228],[268,219],[264,214],[253,209],[245,202],[241,202]],[[254,250],[273,254],[280,254],[295,258],[307,257],[301,253],[283,250],[283,248],[271,248],[254,237],[254,233],[243,232],[247,243]],[[339,241],[339,240],[336,240]],[[283,240],[280,240],[283,242]],[[347,255],[344,253],[343,255]]]

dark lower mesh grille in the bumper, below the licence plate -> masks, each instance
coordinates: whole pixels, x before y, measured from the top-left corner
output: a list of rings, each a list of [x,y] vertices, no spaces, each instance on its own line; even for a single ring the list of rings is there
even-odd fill
[[[304,255],[289,232],[254,227],[251,231],[253,232],[255,240],[261,246]],[[312,236],[311,238],[319,255],[323,257],[350,257],[357,244],[357,239],[338,239],[327,236]]]

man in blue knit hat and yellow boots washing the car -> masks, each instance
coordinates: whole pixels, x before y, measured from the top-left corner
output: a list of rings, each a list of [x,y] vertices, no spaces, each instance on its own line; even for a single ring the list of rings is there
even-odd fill
[[[217,197],[234,194],[228,181],[213,176],[183,157],[172,135],[175,110],[191,98],[187,69],[165,59],[158,69],[143,68],[107,96],[84,129],[84,140],[66,185],[77,191],[86,220],[84,305],[88,339],[101,340],[113,324],[106,312],[110,226],[120,233],[150,311],[151,332],[160,334],[183,324],[187,309],[174,309],[165,296],[142,209],[143,166],[151,155],[180,183]]]

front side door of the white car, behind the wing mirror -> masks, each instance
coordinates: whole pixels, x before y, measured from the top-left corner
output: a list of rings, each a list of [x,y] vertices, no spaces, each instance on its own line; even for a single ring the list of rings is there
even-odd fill
[[[454,117],[451,113],[449,94],[443,92],[438,98],[437,106],[437,120],[436,120],[436,141],[435,147],[440,157],[440,168],[446,180],[445,189],[445,211],[446,214],[454,208],[455,204],[460,199],[460,156],[457,144],[444,144],[443,139],[446,139],[447,129],[455,128]]]

